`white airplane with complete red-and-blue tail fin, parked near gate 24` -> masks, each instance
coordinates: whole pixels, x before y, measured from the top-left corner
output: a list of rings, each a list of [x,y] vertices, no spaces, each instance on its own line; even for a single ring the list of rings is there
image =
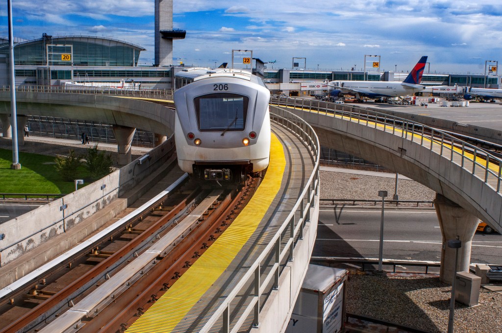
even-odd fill
[[[326,86],[334,87],[329,95],[332,98],[338,99],[344,94],[355,96],[360,100],[361,97],[399,97],[411,95],[425,89],[424,85],[420,84],[424,73],[427,56],[420,58],[411,73],[403,82],[389,81],[330,81]]]

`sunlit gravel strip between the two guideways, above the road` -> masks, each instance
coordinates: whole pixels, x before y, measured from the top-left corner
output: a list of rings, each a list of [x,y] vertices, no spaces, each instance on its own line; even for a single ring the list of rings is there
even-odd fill
[[[389,192],[392,199],[395,187],[394,178],[321,171],[321,199],[366,199],[382,200],[381,190]],[[398,181],[399,200],[434,200],[436,193],[415,181]]]

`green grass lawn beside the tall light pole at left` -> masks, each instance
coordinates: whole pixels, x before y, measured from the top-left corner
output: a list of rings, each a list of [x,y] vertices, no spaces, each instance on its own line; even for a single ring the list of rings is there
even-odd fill
[[[12,150],[0,149],[0,193],[68,194],[75,191],[75,184],[63,181],[58,174],[54,157],[20,152],[19,162],[21,170],[12,170]],[[86,168],[81,166],[76,179],[88,176]]]

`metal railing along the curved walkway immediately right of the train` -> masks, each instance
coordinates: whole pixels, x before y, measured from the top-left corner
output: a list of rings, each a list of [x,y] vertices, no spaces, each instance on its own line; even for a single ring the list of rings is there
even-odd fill
[[[312,127],[303,121],[300,117],[278,108],[271,107],[270,118],[272,121],[283,125],[295,132],[304,143],[310,148],[310,155],[312,162],[314,164],[314,170],[310,175],[310,178],[300,195],[295,206],[291,210],[282,226],[276,232],[270,243],[265,247],[262,254],[257,258],[255,263],[249,267],[247,272],[244,274],[243,278],[229,291],[226,298],[222,301],[221,305],[216,309],[212,316],[205,323],[204,327],[200,330],[201,332],[210,331],[211,327],[222,317],[223,328],[222,331],[225,333],[236,332],[239,330],[244,321],[251,315],[253,315],[253,326],[258,326],[260,319],[260,300],[262,299],[262,292],[267,288],[267,285],[274,279],[274,288],[279,287],[279,277],[281,275],[281,262],[288,256],[289,261],[292,261],[293,251],[295,248],[295,238],[303,239],[303,228],[305,223],[310,221],[310,210],[315,207],[315,198],[319,195],[319,140],[315,134]],[[307,197],[307,199],[305,199]],[[299,213],[299,218],[296,218],[297,213]],[[290,235],[287,243],[281,245],[281,235],[283,232],[290,229]],[[266,266],[266,259],[271,255],[274,256],[274,265],[270,269],[269,273],[263,277],[262,268]],[[265,271],[265,270],[264,270]],[[244,286],[252,285],[254,286],[252,291],[252,300],[245,306],[244,309],[240,309],[237,317],[230,318],[230,304],[237,297],[242,297]],[[232,320],[230,320],[232,319]],[[231,322],[236,320],[235,324],[231,327]]]

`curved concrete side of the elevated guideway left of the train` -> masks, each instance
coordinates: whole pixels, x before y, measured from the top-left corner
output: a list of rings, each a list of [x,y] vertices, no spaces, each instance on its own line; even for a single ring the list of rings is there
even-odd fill
[[[9,91],[0,91],[0,113],[11,113],[10,99]],[[19,115],[94,121],[167,136],[174,132],[174,110],[139,99],[91,94],[17,92],[16,106]]]

